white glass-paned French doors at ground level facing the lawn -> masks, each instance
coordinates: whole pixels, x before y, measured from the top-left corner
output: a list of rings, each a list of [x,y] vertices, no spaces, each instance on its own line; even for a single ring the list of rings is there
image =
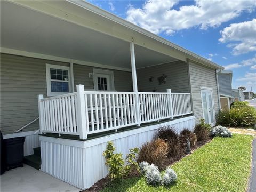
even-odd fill
[[[213,105],[213,93],[211,89],[201,89],[203,115],[205,123],[209,123],[212,126],[215,125],[214,105]]]

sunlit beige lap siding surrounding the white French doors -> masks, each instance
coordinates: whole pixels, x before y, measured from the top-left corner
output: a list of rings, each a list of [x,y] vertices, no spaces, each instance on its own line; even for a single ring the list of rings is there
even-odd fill
[[[200,87],[209,87],[213,89],[215,115],[219,113],[219,101],[215,69],[211,69],[198,63],[193,63],[189,61],[189,71],[195,123],[198,123],[199,119],[203,118]]]

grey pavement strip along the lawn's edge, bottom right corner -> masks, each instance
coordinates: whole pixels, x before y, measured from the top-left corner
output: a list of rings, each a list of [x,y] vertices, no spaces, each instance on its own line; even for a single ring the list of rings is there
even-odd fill
[[[252,174],[248,192],[256,191],[256,139],[252,142]]]

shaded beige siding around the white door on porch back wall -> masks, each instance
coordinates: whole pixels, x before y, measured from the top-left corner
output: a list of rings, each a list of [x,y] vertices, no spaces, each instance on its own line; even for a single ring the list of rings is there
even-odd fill
[[[74,64],[74,83],[75,86],[82,84],[84,89],[93,89],[93,79],[89,78],[89,73],[93,73],[94,69],[100,69],[97,67],[76,65]],[[102,68],[101,68],[102,69]],[[110,70],[114,72],[114,85],[116,91],[132,91],[132,73],[127,71],[119,71],[112,69],[103,69]]]

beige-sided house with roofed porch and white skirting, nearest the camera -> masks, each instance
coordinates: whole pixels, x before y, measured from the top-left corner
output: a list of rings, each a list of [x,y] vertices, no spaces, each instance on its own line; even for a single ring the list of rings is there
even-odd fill
[[[220,69],[82,0],[1,1],[1,131],[81,189],[108,174],[110,140],[126,154],[159,126],[215,125]]]

